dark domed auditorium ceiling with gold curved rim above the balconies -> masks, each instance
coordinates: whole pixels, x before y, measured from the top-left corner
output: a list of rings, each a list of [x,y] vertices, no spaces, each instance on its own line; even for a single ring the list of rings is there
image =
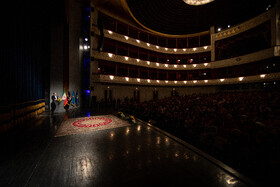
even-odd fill
[[[191,6],[183,0],[93,0],[99,10],[132,25],[169,35],[207,31],[253,18],[275,0],[215,0]]]

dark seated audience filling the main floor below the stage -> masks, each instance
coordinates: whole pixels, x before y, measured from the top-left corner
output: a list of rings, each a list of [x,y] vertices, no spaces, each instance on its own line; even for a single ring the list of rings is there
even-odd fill
[[[275,174],[280,164],[279,91],[173,96],[137,103],[124,113],[172,133],[251,177]]]

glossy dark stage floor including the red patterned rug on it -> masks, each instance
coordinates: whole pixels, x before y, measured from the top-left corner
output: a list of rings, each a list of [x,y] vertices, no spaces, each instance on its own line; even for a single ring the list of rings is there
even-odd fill
[[[0,185],[251,185],[143,122],[129,124],[113,115],[75,115],[63,119],[62,123],[56,119],[61,125],[46,146],[41,143],[36,149],[25,147],[25,152],[18,156],[2,160]],[[56,128],[53,121],[47,124]],[[45,132],[46,126],[42,129]]]

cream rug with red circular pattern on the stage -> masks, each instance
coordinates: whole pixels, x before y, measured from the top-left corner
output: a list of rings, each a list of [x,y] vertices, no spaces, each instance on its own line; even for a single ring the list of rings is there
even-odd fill
[[[130,125],[113,115],[72,118],[62,122],[55,137],[112,129]]]

